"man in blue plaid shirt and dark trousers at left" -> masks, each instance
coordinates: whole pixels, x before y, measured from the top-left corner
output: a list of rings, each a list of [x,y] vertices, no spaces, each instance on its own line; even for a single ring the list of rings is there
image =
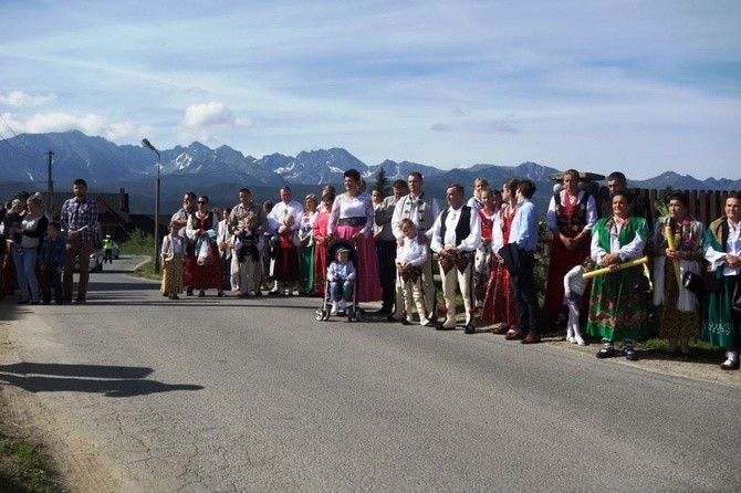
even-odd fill
[[[95,249],[97,223],[97,204],[87,198],[87,183],[77,178],[72,183],[74,198],[62,206],[60,222],[66,232],[66,259],[64,263],[64,296],[72,301],[72,274],[74,261],[80,258],[80,285],[76,303],[85,303],[87,281],[90,279],[90,255]]]

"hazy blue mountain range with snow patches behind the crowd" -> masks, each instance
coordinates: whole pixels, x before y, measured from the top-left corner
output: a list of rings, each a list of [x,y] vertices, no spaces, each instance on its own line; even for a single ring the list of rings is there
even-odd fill
[[[21,134],[3,139],[0,146],[0,193],[8,197],[17,190],[45,190],[49,176],[48,150],[53,151],[53,181],[55,189],[67,189],[75,178],[84,178],[91,191],[115,192],[125,188],[129,193],[133,212],[150,211],[154,201],[156,155],[134,145],[118,146],[102,137],[87,136],[79,130],[49,134]],[[501,183],[516,176],[530,178],[540,190],[550,190],[550,176],[561,170],[523,162],[519,166],[479,164],[469,168],[442,170],[417,162],[385,160],[368,166],[345,149],[331,148],[299,153],[295,157],[271,154],[261,158],[244,156],[229,146],[211,149],[194,141],[187,147],[159,150],[160,197],[163,210],[179,206],[184,190],[194,189],[209,195],[212,203],[236,202],[237,189],[249,187],[257,200],[274,200],[276,190],[289,185],[294,196],[317,192],[322,186],[342,183],[346,169],[355,168],[373,183],[383,168],[393,181],[419,171],[426,189],[442,199],[448,183],[460,182],[469,188],[478,176],[491,183]],[[671,171],[641,181],[629,181],[632,187],[695,190],[738,190],[741,180],[708,178],[699,180]],[[341,188],[341,187],[340,187]],[[545,196],[545,195],[544,195]]]

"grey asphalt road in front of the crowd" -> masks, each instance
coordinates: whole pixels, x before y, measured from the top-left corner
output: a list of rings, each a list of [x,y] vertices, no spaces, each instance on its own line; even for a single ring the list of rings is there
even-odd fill
[[[122,491],[741,486],[738,388],[483,332],[316,322],[317,300],[171,302],[133,263],[92,274],[82,306],[1,306],[18,360],[0,385]]]

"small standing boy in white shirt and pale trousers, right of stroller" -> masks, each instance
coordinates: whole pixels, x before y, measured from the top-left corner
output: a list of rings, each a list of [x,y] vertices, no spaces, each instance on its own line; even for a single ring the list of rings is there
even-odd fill
[[[427,262],[427,245],[417,240],[417,227],[411,219],[405,218],[399,221],[399,229],[404,234],[404,244],[396,248],[396,271],[397,284],[404,292],[404,310],[406,318],[403,325],[413,323],[414,300],[419,314],[419,324],[426,327],[435,327],[435,324],[427,318],[425,311],[425,294],[421,285],[421,265]]]

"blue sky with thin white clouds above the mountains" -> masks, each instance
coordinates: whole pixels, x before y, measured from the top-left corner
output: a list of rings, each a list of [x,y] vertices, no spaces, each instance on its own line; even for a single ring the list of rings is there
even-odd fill
[[[0,0],[0,139],[739,179],[741,2]]]

